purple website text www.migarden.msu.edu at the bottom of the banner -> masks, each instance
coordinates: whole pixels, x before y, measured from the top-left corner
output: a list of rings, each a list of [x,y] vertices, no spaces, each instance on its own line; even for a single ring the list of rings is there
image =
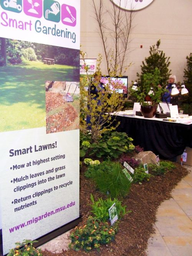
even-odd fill
[[[13,233],[14,231],[17,231],[21,228],[25,228],[26,226],[29,226],[33,223],[37,223],[38,221],[41,221],[42,219],[45,219],[53,214],[56,214],[56,213],[59,213],[65,209],[68,209],[70,207],[73,207],[75,205],[75,201],[71,201],[71,203],[67,204],[67,205],[63,205],[59,208],[56,208],[55,211],[46,211],[46,213],[40,215],[40,216],[37,216],[37,217],[33,217],[32,219],[28,220],[27,222],[23,222],[17,226],[14,226],[13,228],[10,228],[9,229],[9,232],[10,233]]]

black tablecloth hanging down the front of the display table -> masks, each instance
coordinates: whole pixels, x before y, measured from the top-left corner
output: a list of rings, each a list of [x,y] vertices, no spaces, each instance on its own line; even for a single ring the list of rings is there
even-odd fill
[[[116,121],[120,121],[117,131],[126,132],[135,146],[152,151],[160,158],[174,158],[181,155],[186,146],[192,148],[192,125],[127,116],[116,116]]]

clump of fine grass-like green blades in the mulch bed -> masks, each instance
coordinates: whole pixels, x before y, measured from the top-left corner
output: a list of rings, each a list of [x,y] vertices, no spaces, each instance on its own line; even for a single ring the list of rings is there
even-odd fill
[[[124,198],[131,187],[118,162],[103,161],[100,165],[91,165],[84,175],[93,179],[99,191],[111,198]]]

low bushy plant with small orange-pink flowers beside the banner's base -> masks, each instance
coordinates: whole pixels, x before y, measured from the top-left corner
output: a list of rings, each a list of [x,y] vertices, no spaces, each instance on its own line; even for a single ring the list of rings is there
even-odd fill
[[[75,251],[82,249],[86,253],[92,249],[99,252],[101,244],[111,243],[117,232],[118,221],[111,226],[108,222],[100,222],[89,216],[84,226],[76,227],[74,232],[71,233],[69,248]]]

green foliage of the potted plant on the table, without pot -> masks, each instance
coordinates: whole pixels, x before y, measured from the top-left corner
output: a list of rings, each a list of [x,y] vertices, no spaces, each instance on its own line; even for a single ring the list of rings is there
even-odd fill
[[[155,68],[151,73],[145,73],[142,79],[142,86],[138,91],[134,91],[137,97],[137,102],[142,106],[156,105],[161,101],[161,96],[166,91],[159,85],[161,80],[160,70]],[[152,89],[151,89],[152,88]],[[150,101],[146,101],[146,96],[150,97]]]

